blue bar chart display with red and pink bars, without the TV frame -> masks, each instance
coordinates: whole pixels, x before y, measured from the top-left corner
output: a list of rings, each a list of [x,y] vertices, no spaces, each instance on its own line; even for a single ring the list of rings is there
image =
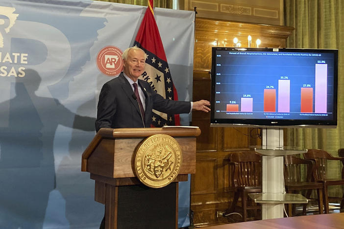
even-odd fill
[[[334,68],[326,54],[225,52],[217,59],[215,109],[221,116],[331,115]]]

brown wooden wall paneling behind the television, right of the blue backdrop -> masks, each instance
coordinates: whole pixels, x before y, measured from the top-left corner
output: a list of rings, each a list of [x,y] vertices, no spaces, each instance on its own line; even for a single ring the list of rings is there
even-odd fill
[[[252,47],[257,38],[262,41],[260,47],[285,47],[294,29],[205,18],[197,18],[195,27],[193,101],[211,99],[212,46],[233,46],[233,38],[237,37],[245,47],[250,35]],[[226,223],[227,219],[217,218],[216,213],[228,208],[233,198],[233,170],[228,155],[260,145],[261,139],[253,128],[210,127],[209,113],[194,111],[192,125],[199,126],[202,132],[197,137],[196,174],[191,176],[193,223],[197,227]]]

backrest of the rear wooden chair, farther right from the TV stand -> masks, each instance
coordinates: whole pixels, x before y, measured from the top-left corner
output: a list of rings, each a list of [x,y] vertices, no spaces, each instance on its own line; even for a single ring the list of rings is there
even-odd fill
[[[307,153],[303,154],[305,159],[314,160],[317,166],[317,179],[320,181],[326,180],[326,160],[331,160],[333,157],[324,150],[308,149]]]

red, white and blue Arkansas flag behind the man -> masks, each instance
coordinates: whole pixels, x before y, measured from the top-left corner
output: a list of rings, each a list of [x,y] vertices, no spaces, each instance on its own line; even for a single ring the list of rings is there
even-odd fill
[[[147,54],[146,67],[141,79],[146,80],[150,87],[164,98],[178,100],[159,29],[155,22],[153,0],[148,2],[134,46],[142,48]],[[152,125],[155,127],[180,125],[179,115],[165,114],[156,110],[153,110],[153,113]]]

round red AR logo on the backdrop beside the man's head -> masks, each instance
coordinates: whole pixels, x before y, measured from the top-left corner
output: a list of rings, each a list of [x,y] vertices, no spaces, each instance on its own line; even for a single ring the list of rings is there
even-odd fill
[[[109,76],[119,75],[123,68],[122,50],[116,46],[103,47],[97,55],[97,67]]]

